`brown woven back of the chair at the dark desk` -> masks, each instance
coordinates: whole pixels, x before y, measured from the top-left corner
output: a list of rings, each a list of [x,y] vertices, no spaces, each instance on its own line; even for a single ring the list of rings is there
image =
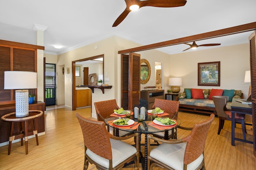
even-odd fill
[[[228,118],[228,115],[224,112],[226,109],[228,96],[212,96],[212,100],[214,102],[218,117]]]

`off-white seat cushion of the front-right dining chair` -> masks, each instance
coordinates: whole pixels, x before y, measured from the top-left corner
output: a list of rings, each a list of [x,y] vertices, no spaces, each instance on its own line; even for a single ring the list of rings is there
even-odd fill
[[[183,170],[184,152],[187,143],[167,144],[163,143],[150,152],[150,156],[175,170]],[[187,165],[187,170],[195,170],[203,161],[201,154],[196,160]]]

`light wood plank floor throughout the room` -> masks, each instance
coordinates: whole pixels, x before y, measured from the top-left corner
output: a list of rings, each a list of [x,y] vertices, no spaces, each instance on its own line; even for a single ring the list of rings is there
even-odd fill
[[[8,155],[8,145],[0,147],[0,169],[4,170],[82,170],[84,163],[84,143],[82,131],[75,113],[90,117],[90,108],[70,111],[56,109],[46,111],[45,135],[39,136],[39,145],[35,138],[28,139],[28,155],[25,146],[13,143],[11,154]],[[192,127],[196,122],[204,121],[206,115],[179,113],[182,126]],[[93,118],[92,118],[93,119]],[[247,139],[252,140],[251,126],[246,126]],[[226,121],[220,135],[218,118],[210,127],[204,151],[207,170],[254,170],[256,158],[253,155],[253,145],[236,141],[231,145],[231,123]],[[178,139],[188,135],[190,131],[178,129]],[[242,137],[240,125],[236,128],[236,137]],[[127,141],[131,142],[132,141]],[[171,160],[170,160],[171,161]],[[89,169],[95,170],[94,165]],[[134,168],[122,168],[133,170]],[[160,170],[160,168],[154,168]]]

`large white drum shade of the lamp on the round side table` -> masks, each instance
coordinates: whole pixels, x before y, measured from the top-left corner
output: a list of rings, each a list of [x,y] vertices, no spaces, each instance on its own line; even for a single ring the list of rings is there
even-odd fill
[[[5,71],[4,89],[37,88],[37,73],[28,71]]]

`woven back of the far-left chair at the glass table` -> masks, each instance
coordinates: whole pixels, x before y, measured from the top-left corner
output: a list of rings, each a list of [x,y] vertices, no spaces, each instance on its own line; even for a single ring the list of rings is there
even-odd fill
[[[101,102],[94,102],[94,106],[96,109],[96,115],[98,121],[104,121],[104,119],[114,113],[114,109],[120,109],[117,104],[116,100],[105,100]],[[102,119],[103,118],[103,119]]]

